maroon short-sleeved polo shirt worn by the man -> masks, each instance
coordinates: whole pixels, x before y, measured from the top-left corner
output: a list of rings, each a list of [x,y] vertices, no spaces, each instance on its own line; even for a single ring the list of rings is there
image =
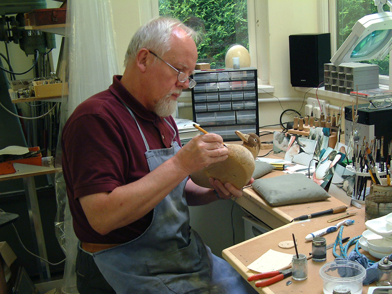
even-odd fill
[[[140,220],[102,236],[90,226],[78,200],[80,196],[111,192],[149,172],[140,131],[119,98],[134,113],[150,149],[169,148],[174,135],[162,118],[148,111],[123,87],[121,77],[114,76],[108,90],[78,105],[62,132],[62,167],[73,228],[83,242],[125,243],[140,236],[152,219],[150,211]],[[173,118],[167,120],[180,144]]]

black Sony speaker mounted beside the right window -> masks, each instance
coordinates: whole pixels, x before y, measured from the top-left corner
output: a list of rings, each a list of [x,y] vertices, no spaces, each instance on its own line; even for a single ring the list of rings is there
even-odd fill
[[[292,86],[318,87],[324,81],[324,63],[331,59],[330,33],[290,35],[289,47]]]

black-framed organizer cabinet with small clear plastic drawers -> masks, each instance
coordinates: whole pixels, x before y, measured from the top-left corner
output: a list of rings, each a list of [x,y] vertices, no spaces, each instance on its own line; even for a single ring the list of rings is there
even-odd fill
[[[196,71],[193,78],[194,122],[225,141],[238,139],[236,130],[259,134],[255,68]]]

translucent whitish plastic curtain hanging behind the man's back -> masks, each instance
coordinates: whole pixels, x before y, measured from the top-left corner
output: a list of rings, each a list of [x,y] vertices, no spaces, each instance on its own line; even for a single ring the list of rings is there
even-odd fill
[[[62,98],[56,167],[61,167],[61,131],[64,123],[77,105],[107,89],[113,75],[120,74],[110,0],[68,0],[67,3],[63,60],[69,94]],[[62,172],[56,173],[55,185],[56,236],[66,255],[62,291],[77,293],[74,269],[78,240],[73,232]]]

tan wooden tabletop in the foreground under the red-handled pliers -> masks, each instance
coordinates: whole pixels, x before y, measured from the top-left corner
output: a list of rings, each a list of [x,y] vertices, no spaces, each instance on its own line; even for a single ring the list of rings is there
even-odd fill
[[[362,234],[365,227],[365,209],[350,208],[350,211],[356,211],[358,214],[356,216],[350,217],[354,220],[354,224],[350,226],[344,226],[343,228],[343,238],[350,237],[351,239]],[[338,216],[339,214],[334,215]],[[246,267],[253,261],[258,259],[261,255],[266,253],[269,249],[273,249],[283,253],[295,254],[295,249],[282,249],[278,244],[282,241],[293,240],[292,234],[294,233],[295,239],[297,240],[298,253],[303,253],[309,255],[312,251],[312,243],[305,241],[305,236],[311,232],[317,231],[324,227],[336,224],[336,222],[327,222],[332,216],[323,216],[316,219],[310,219],[307,221],[294,221],[292,223],[286,224],[282,227],[274,229],[270,232],[264,233],[258,237],[247,240],[238,245],[234,245],[222,251],[222,256],[224,259],[231,264],[234,269],[236,269],[245,279],[248,276],[255,274],[255,271],[248,270]],[[326,238],[327,244],[335,242],[338,232],[332,232],[323,237]],[[354,246],[350,246],[347,252],[351,252]],[[360,249],[361,253],[364,253],[369,259],[373,261],[378,261],[374,257],[370,256],[368,252]],[[337,253],[340,254],[339,249]],[[327,261],[333,261],[335,257],[333,256],[332,248],[327,250]],[[288,277],[282,281],[272,284],[264,288],[256,288],[254,286],[255,282],[249,282],[253,288],[255,288],[259,293],[264,294],[287,294],[287,293],[301,293],[301,294],[322,294],[323,281],[319,276],[319,269],[326,262],[317,263],[313,262],[311,259],[308,260],[308,278],[304,281],[294,281],[292,277]],[[287,281],[292,281],[290,285],[286,285]],[[375,282],[369,286],[376,286]],[[368,287],[364,286],[363,293],[368,292]]]

